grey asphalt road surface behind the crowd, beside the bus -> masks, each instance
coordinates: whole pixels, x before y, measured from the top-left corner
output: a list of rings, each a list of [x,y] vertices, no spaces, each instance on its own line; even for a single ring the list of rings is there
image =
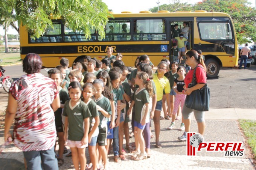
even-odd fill
[[[5,75],[14,80],[24,74],[22,65],[6,66]],[[45,69],[41,73],[47,75]],[[221,68],[218,78],[207,80],[210,87],[210,107],[256,108],[256,65],[247,70]],[[7,101],[7,93],[0,90],[0,102]]]

